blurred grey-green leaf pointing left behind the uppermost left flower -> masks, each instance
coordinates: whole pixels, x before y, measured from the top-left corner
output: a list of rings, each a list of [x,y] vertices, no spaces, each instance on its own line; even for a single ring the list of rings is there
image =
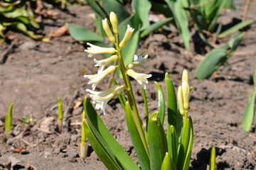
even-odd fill
[[[88,30],[87,28],[68,24],[68,30],[70,32],[70,35],[73,38],[75,38],[75,40],[81,40],[85,42],[91,42],[91,41],[104,42],[103,38],[93,33],[92,31]]]

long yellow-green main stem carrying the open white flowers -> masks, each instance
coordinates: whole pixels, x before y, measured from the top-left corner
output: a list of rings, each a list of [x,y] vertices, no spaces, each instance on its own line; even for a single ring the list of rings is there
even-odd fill
[[[139,132],[139,136],[142,139],[142,142],[143,142],[143,145],[145,147],[146,153],[149,155],[149,148],[147,147],[146,137],[145,137],[145,133],[144,133],[142,120],[139,117],[138,108],[137,108],[137,105],[135,103],[135,98],[134,98],[134,94],[133,94],[133,91],[132,91],[132,85],[131,85],[131,82],[129,81],[129,76],[127,75],[127,69],[124,65],[124,60],[122,59],[122,52],[121,52],[121,49],[119,47],[119,35],[116,35],[115,46],[116,46],[117,54],[118,54],[118,57],[119,57],[119,64],[120,64],[119,69],[122,73],[122,77],[124,79],[124,84],[125,84],[125,86],[127,86],[127,97],[128,97],[128,101],[129,101],[129,106],[131,107],[131,110],[132,110],[132,117],[134,118],[134,123],[137,126],[137,130]]]

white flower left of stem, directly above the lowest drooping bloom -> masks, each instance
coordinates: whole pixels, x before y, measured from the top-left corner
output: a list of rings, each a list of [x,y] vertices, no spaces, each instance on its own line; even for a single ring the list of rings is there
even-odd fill
[[[97,84],[104,79],[104,77],[107,76],[107,74],[110,74],[112,72],[114,72],[114,70],[116,69],[116,67],[114,66],[110,66],[107,69],[105,69],[104,71],[100,71],[97,72],[97,74],[93,74],[93,75],[84,75],[84,77],[86,79],[90,79],[90,81],[88,81],[87,84],[92,84],[92,90],[95,90]]]

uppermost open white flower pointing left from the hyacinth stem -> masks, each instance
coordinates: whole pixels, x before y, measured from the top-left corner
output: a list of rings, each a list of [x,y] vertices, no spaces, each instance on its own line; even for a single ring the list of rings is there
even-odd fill
[[[89,53],[88,57],[97,54],[114,54],[114,52],[117,52],[113,47],[99,47],[89,42],[87,42],[87,45],[90,45],[90,47],[87,47],[87,50],[85,50],[85,52]]]

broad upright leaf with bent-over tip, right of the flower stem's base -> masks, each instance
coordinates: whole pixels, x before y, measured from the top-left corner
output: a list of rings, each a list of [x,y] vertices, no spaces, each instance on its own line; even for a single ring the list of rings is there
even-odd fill
[[[167,152],[166,134],[159,120],[159,113],[149,117],[148,127],[150,169],[161,169],[161,164]]]

